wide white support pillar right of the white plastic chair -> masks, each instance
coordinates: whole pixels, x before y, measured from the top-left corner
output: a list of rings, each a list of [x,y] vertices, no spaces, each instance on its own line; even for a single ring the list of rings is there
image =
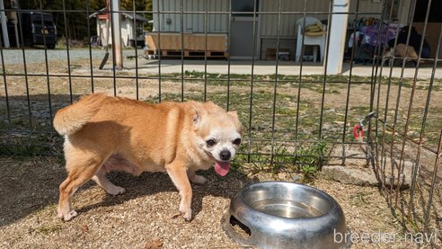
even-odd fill
[[[333,0],[332,23],[329,29],[330,48],[327,49],[327,74],[338,75],[342,73],[348,21],[349,0]]]

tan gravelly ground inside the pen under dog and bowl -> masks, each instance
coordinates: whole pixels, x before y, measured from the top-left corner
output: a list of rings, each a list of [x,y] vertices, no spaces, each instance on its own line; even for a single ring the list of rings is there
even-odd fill
[[[164,173],[110,173],[126,193],[111,197],[93,182],[76,192],[79,216],[57,218],[58,185],[66,177],[57,157],[0,158],[0,247],[2,248],[243,248],[221,228],[235,192],[252,182],[290,180],[290,175],[246,175],[233,170],[224,178],[202,172],[205,185],[192,185],[193,219],[177,217],[179,195]],[[314,187],[335,198],[354,235],[352,248],[414,248],[376,187],[345,185],[319,177]],[[357,236],[371,235],[371,242]],[[395,239],[379,241],[376,235]],[[428,244],[420,248],[429,248]]]

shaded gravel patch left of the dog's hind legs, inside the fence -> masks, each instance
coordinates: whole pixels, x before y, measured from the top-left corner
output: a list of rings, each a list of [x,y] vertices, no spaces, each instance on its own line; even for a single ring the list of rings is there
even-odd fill
[[[55,156],[0,158],[0,227],[57,203],[66,177],[60,163]]]

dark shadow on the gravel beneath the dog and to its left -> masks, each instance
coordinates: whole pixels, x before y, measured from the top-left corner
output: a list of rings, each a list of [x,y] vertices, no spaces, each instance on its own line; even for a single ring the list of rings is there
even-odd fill
[[[57,215],[58,185],[66,178],[62,161],[55,156],[0,158],[0,206],[2,207],[0,228],[50,206],[52,206],[50,209],[54,210],[54,217]],[[234,170],[225,177],[218,176],[213,169],[199,174],[207,177],[208,182],[203,185],[192,183],[192,217],[201,211],[205,196],[230,199],[244,185],[258,181]],[[102,201],[77,209],[79,216],[88,211],[93,212],[93,209],[99,207],[119,205],[158,192],[172,191],[178,195],[166,173],[142,173],[140,176],[133,176],[128,173],[112,172],[108,173],[108,178],[116,185],[126,188],[126,192],[118,196],[106,195]],[[89,181],[79,191],[93,186],[95,183]],[[179,201],[176,202],[176,209],[164,210],[164,213],[178,213]],[[74,196],[74,207],[78,207],[78,204]]]

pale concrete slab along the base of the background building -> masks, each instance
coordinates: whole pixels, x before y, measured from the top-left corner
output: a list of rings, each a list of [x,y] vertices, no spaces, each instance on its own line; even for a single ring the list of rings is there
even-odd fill
[[[181,63],[182,62],[182,63]],[[182,64],[182,65],[181,65]],[[110,65],[109,65],[110,66]],[[108,66],[108,67],[109,67]],[[125,61],[125,67],[128,70],[135,70],[135,60]],[[295,62],[275,61],[241,61],[241,60],[208,60],[207,65],[204,59],[138,59],[138,71],[144,74],[158,74],[161,67],[162,74],[181,73],[185,71],[207,72],[209,74],[240,74],[240,75],[286,75],[286,76],[311,76],[323,75],[323,65],[319,63],[306,62],[303,65]],[[349,76],[372,76],[374,74],[371,65],[356,64],[350,67],[349,63],[343,65],[343,71],[340,75]],[[420,79],[429,79],[433,74],[435,78],[442,79],[442,67],[433,67],[428,65],[420,67],[379,67],[377,75],[392,77],[413,78],[417,74]]]

